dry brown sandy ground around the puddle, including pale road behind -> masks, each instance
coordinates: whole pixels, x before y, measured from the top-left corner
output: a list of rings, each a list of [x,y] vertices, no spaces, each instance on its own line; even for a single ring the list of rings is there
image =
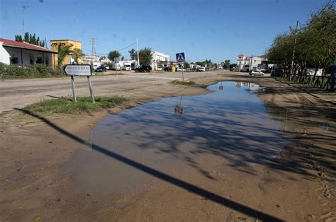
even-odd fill
[[[274,160],[264,165],[237,165],[219,156],[198,156],[197,164],[210,173],[206,178],[189,165],[167,174],[105,152],[151,175],[150,180],[113,194],[77,189],[74,175],[61,169],[77,150],[88,148],[91,129],[99,119],[162,97],[207,93],[202,87],[170,85],[177,74],[130,76],[93,81],[99,95],[125,95],[129,100],[121,105],[90,114],[46,117],[5,111],[50,92],[69,95],[68,79],[57,79],[57,84],[50,80],[1,82],[6,83],[7,93],[17,93],[16,98],[21,97],[16,88],[27,98],[24,86],[32,91],[31,100],[23,97],[13,103],[1,89],[0,104],[6,107],[1,107],[0,116],[0,221],[336,220],[335,94],[224,71],[186,77],[206,85],[228,80],[266,87],[259,97],[271,117],[284,122],[283,133],[289,141]],[[86,93],[86,80],[81,81],[79,94]],[[50,85],[43,86],[46,83]]]

